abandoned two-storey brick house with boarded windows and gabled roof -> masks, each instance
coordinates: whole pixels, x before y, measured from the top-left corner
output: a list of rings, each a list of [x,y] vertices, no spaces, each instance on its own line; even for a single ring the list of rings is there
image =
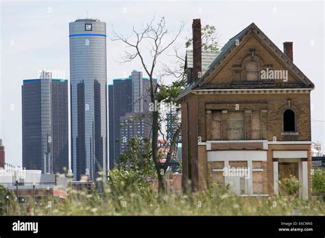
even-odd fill
[[[278,181],[293,175],[308,199],[314,85],[293,64],[293,43],[283,43],[282,53],[252,23],[213,59],[201,44],[200,19],[194,19],[188,84],[178,97],[183,187],[191,181],[204,190],[215,182],[240,196],[273,196]],[[248,176],[225,175],[225,168],[247,168]]]

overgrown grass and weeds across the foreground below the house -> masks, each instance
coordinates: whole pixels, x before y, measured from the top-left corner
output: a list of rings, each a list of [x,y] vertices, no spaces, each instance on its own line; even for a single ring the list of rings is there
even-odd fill
[[[49,208],[37,204],[35,215],[325,215],[322,199],[302,201],[295,197],[238,197],[210,189],[195,194],[171,193],[157,196],[143,194],[136,187],[111,191],[106,185],[104,194],[69,191],[65,201],[56,201]],[[10,215],[34,215],[33,205],[10,209]]]

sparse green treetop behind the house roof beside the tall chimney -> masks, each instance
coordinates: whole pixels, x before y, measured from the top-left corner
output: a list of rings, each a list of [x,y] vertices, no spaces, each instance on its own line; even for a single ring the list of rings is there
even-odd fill
[[[204,25],[201,29],[202,51],[218,51],[217,29],[213,25]],[[185,47],[193,44],[193,38],[186,41]]]

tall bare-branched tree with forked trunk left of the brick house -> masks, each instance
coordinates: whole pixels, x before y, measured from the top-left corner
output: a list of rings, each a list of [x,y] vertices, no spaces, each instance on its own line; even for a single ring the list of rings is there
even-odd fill
[[[178,31],[175,34],[169,32],[169,29],[166,27],[165,18],[160,18],[158,21],[155,20],[155,17],[152,18],[152,21],[143,26],[143,29],[137,31],[134,27],[132,28],[131,36],[122,36],[117,32],[113,31],[115,38],[112,40],[119,40],[125,43],[125,46],[130,48],[131,51],[125,51],[125,56],[123,57],[123,62],[131,62],[134,59],[139,59],[145,70],[147,76],[149,77],[150,82],[150,99],[152,110],[152,159],[154,160],[154,166],[158,176],[158,191],[166,191],[165,183],[165,172],[169,166],[169,161],[173,155],[174,150],[176,149],[175,144],[180,133],[180,128],[173,135],[173,139],[170,142],[170,148],[167,153],[165,163],[161,163],[158,157],[158,135],[160,131],[160,115],[158,111],[158,105],[160,101],[163,101],[164,98],[161,94],[158,94],[158,88],[162,85],[157,85],[154,87],[154,75],[158,73],[158,59],[167,53],[167,50],[175,44],[176,40],[180,36],[184,28],[183,24],[180,24]],[[168,42],[165,42],[165,39]],[[145,55],[145,51],[149,51],[148,55]],[[165,87],[165,86],[164,86]]]

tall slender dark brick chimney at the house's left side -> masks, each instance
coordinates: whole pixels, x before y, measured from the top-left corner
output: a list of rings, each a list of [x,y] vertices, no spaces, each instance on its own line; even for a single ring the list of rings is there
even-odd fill
[[[192,82],[201,76],[202,72],[202,39],[201,39],[201,19],[193,19],[193,77]]]

